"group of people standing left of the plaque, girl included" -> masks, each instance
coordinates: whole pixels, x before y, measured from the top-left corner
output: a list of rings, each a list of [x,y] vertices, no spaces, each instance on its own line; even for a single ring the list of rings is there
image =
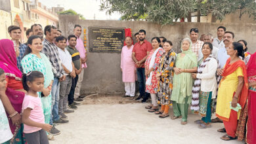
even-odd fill
[[[8,31],[11,40],[0,40],[0,143],[49,143],[85,98],[82,27],[66,38],[54,26],[33,24],[24,44],[20,27]]]

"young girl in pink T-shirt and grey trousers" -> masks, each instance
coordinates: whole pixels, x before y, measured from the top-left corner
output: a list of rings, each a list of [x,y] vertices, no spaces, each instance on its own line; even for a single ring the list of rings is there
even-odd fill
[[[24,123],[24,134],[28,143],[49,143],[47,132],[50,132],[50,124],[45,124],[41,99],[37,92],[41,92],[44,86],[43,73],[30,71],[22,76],[24,90],[28,92],[22,103],[22,122]]]

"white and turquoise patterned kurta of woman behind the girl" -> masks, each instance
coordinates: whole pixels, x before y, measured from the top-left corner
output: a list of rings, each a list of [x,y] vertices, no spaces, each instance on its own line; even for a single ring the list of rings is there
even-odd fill
[[[53,81],[53,71],[51,62],[45,56],[45,54],[40,53],[41,58],[38,58],[35,54],[28,54],[22,59],[22,69],[24,73],[30,71],[40,71],[45,77],[44,87],[47,88],[51,81]],[[43,113],[45,115],[45,123],[49,124],[51,118],[51,92],[49,96],[41,97],[41,92],[38,92],[39,98],[41,98]]]

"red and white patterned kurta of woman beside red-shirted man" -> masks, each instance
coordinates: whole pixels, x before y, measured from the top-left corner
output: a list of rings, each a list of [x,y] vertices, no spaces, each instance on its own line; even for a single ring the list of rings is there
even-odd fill
[[[156,74],[158,71],[158,67],[160,65],[160,60],[161,57],[163,56],[164,50],[163,48],[160,48],[158,50],[158,52],[156,53],[156,58],[155,58],[155,62],[153,65],[153,71],[152,71],[152,80],[151,80],[151,84],[146,84],[146,92],[151,93],[151,94],[156,94],[158,92],[158,79],[156,79]],[[152,55],[154,54],[154,50],[150,51],[150,54],[148,54],[148,58],[146,59],[145,62],[145,67],[146,69],[150,69],[149,65],[150,65],[150,60],[152,58]],[[146,77],[146,81],[147,81],[148,77]]]

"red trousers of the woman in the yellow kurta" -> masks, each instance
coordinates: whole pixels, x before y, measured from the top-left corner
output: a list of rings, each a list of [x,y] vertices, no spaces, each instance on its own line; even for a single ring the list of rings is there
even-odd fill
[[[223,120],[226,129],[226,134],[230,137],[236,137],[236,126],[238,126],[238,113],[231,109],[229,120]]]

